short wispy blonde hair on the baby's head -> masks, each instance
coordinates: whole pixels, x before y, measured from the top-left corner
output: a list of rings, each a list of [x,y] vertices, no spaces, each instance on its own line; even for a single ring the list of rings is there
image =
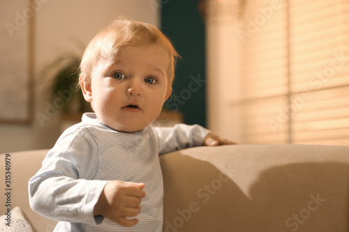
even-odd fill
[[[168,52],[168,78],[169,86],[172,86],[174,67],[179,54],[170,40],[151,24],[125,18],[112,21],[94,36],[82,56],[80,72],[84,73],[85,81],[89,82],[91,72],[100,61],[112,61],[117,59],[119,52],[126,47],[142,45],[160,45]]]

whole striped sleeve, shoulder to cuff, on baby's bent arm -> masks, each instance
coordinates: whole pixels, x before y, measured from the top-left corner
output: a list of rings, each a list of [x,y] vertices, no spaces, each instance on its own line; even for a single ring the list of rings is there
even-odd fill
[[[29,180],[29,203],[40,215],[65,222],[101,223],[94,206],[107,183],[93,180],[98,146],[86,128],[68,129]]]

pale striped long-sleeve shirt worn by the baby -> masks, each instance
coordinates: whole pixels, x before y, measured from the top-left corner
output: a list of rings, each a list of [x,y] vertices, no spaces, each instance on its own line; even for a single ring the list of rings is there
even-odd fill
[[[29,201],[36,212],[59,221],[54,231],[162,231],[163,178],[158,155],[201,146],[209,133],[199,125],[151,127],[119,132],[84,114],[47,153],[29,180]],[[110,180],[144,183],[138,224],[123,227],[94,217],[99,196]]]

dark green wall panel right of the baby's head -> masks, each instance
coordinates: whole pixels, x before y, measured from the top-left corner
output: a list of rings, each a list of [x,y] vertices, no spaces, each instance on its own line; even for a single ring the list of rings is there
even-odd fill
[[[166,106],[181,111],[184,123],[206,126],[205,24],[196,0],[161,1],[161,30],[179,52],[172,98]]]

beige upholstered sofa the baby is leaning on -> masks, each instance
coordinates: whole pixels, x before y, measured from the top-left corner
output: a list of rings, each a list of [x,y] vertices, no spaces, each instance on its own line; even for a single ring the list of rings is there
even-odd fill
[[[46,232],[56,222],[33,212],[27,193],[45,153],[10,153],[8,167],[11,208]],[[6,193],[6,154],[0,159]],[[349,231],[349,146],[188,148],[161,156],[161,166],[163,231]],[[8,199],[0,195],[3,226]]]

